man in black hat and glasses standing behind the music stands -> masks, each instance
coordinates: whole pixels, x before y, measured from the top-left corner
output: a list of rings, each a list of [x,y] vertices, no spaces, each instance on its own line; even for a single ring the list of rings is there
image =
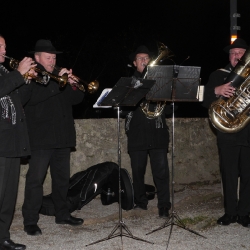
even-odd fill
[[[136,70],[134,77],[143,78],[144,71],[153,53],[145,46],[139,46],[129,58]],[[144,102],[143,100],[142,102]],[[141,103],[140,103],[141,104]],[[157,189],[158,210],[160,217],[168,217],[171,208],[169,193],[168,144],[169,132],[165,113],[148,119],[140,108],[130,112],[126,117],[126,133],[128,136],[128,153],[131,159],[133,176],[135,209],[147,210],[144,175],[147,158],[150,156],[154,183]],[[154,111],[156,103],[151,102],[149,110]]]

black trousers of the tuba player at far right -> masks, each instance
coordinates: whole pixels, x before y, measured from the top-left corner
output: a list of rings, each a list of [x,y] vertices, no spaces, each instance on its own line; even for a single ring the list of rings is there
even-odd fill
[[[225,213],[247,215],[250,212],[250,147],[220,147],[219,156]]]

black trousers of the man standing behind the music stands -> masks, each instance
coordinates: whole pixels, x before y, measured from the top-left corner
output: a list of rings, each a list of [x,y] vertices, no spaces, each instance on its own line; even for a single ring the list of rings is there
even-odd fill
[[[171,208],[169,192],[169,167],[167,149],[150,149],[129,152],[132,167],[134,197],[136,205],[147,205],[144,176],[148,155],[153,180],[157,189],[158,208]]]

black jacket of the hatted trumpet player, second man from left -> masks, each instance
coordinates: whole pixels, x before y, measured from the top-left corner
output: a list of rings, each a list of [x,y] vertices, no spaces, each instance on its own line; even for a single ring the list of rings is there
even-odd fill
[[[54,79],[47,85],[31,82],[31,95],[24,106],[31,149],[75,147],[76,132],[72,106],[84,93],[70,84],[60,88]]]

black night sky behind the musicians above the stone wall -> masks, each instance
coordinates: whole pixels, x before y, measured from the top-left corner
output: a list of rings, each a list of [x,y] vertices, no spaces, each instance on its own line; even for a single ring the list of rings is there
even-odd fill
[[[248,44],[249,9],[249,0],[237,1],[238,37]],[[164,43],[174,52],[177,65],[190,56],[184,66],[201,67],[201,85],[228,63],[223,48],[230,43],[230,0],[16,1],[1,4],[0,21],[6,55],[20,60],[38,39],[50,39],[64,52],[57,65],[72,68],[87,82],[100,82],[97,93],[86,94],[74,107],[79,119],[116,117],[113,109],[92,106],[104,88],[132,74],[128,56],[139,45],[146,45],[156,57],[157,42]],[[207,117],[207,110],[201,103],[178,103],[175,116]]]

